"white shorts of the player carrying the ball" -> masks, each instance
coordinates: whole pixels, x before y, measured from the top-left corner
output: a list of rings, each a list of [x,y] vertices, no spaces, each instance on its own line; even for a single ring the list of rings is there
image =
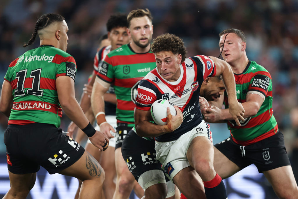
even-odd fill
[[[193,138],[204,136],[212,142],[212,133],[209,127],[209,124],[203,120],[198,126],[184,133],[177,140],[169,142],[155,141],[156,159],[162,163],[162,169],[172,182],[179,171],[190,166],[186,158],[186,152]]]

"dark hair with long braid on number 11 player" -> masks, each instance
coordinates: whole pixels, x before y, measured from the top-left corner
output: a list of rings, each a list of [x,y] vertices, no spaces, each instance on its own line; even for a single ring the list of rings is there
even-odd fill
[[[28,41],[27,44],[25,43],[23,47],[27,47],[28,45],[33,44],[33,42],[35,41],[36,35],[38,33],[38,30],[41,30],[56,21],[59,22],[63,20],[64,20],[64,17],[59,14],[48,13],[48,14],[42,15],[35,24],[35,29],[34,29],[34,32],[32,33],[31,39]]]

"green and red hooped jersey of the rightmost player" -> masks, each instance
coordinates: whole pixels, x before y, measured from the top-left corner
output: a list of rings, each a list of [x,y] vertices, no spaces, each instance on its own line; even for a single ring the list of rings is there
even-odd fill
[[[235,120],[227,122],[232,139],[237,144],[246,146],[275,135],[278,126],[273,116],[272,81],[269,72],[255,61],[249,61],[243,73],[234,76],[238,102],[246,102],[246,95],[256,92],[263,95],[265,100],[255,116],[240,121],[240,127],[236,126]],[[228,108],[226,92],[224,95],[224,105]]]

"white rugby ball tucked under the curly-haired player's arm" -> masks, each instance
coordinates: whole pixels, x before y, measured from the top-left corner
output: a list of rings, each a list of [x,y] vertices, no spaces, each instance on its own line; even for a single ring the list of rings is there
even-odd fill
[[[150,112],[153,121],[158,125],[167,124],[167,107],[170,107],[170,113],[176,115],[174,104],[166,99],[160,99],[153,102]]]

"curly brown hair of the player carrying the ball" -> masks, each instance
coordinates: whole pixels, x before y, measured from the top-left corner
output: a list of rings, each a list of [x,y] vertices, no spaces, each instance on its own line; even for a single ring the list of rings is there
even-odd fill
[[[181,54],[181,62],[185,61],[187,54],[183,40],[170,33],[165,33],[153,39],[151,51],[154,54],[161,51],[172,51],[173,54]]]

